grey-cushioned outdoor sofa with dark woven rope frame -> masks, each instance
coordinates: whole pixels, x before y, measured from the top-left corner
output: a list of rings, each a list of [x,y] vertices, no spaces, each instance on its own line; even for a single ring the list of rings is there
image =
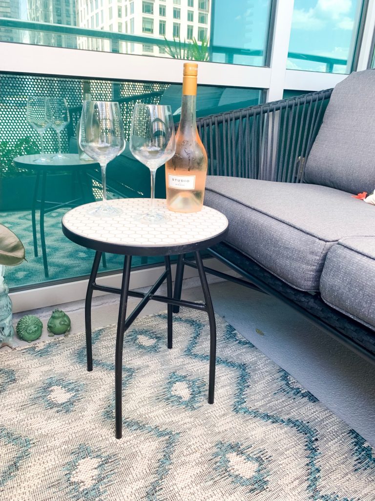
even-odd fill
[[[198,130],[204,203],[229,220],[211,254],[375,360],[375,205],[351,196],[375,188],[375,71]]]

